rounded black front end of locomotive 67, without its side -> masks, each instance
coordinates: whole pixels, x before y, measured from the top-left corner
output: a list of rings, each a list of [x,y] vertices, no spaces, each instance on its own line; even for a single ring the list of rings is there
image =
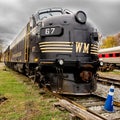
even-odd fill
[[[41,83],[53,92],[85,95],[96,90],[98,32],[83,11],[43,21],[40,29]]]

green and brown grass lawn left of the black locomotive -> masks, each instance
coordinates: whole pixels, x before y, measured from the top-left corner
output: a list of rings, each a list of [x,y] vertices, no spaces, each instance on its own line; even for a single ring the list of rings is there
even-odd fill
[[[0,63],[1,64],[1,63]],[[57,99],[40,89],[28,78],[10,69],[0,69],[0,95],[8,98],[0,104],[0,120],[68,120],[68,112],[54,108]]]

